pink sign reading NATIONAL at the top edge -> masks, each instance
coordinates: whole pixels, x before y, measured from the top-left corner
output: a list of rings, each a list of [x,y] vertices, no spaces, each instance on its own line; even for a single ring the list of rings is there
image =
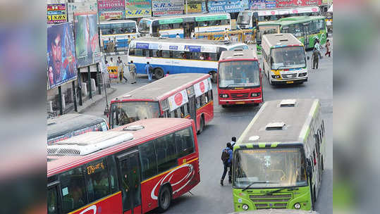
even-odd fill
[[[99,20],[125,18],[125,0],[98,0]]]

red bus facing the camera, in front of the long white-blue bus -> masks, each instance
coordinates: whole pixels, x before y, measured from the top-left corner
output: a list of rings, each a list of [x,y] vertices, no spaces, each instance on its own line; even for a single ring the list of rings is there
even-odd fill
[[[262,103],[262,73],[256,51],[223,51],[218,66],[219,105]]]

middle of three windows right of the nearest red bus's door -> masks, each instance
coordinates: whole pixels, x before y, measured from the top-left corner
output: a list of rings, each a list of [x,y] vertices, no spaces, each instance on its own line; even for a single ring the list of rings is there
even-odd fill
[[[178,165],[177,162],[177,149],[174,134],[168,134],[160,137],[155,141],[158,173],[165,172],[166,170]]]

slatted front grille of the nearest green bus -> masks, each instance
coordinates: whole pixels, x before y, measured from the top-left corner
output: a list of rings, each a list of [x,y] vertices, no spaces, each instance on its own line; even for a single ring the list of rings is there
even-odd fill
[[[251,201],[255,202],[257,209],[286,208],[291,194],[251,195]]]

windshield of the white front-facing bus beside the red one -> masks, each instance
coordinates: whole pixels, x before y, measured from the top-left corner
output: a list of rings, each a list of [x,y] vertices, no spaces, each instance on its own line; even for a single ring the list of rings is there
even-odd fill
[[[305,68],[304,46],[286,46],[271,49],[271,69]]]

